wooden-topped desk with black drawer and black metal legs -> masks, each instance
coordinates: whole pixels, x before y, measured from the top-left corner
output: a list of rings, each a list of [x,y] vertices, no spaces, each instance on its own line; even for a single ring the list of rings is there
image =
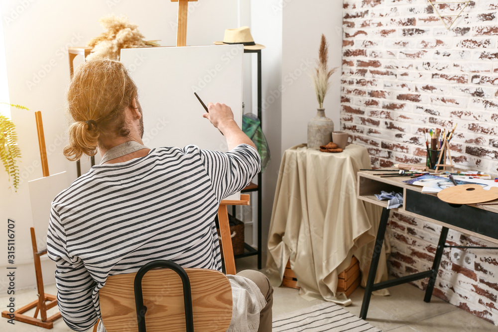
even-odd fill
[[[498,243],[498,207],[496,205],[450,205],[439,200],[435,194],[422,194],[422,187],[403,183],[403,181],[407,180],[406,177],[381,178],[372,173],[368,171],[358,172],[358,198],[383,208],[375,239],[375,249],[372,254],[372,264],[365,287],[362,310],[360,312],[360,318],[362,319],[367,318],[372,292],[387,287],[429,278],[424,301],[430,302],[444,248],[452,247],[445,245],[449,228]],[[380,194],[382,190],[387,192],[403,192],[403,206],[393,210],[398,210],[403,215],[430,221],[442,226],[434,262],[430,270],[380,283],[375,283],[373,280],[379,256],[382,257],[382,255],[378,255],[377,253],[379,251],[378,248],[382,247],[390,211],[387,210],[387,201],[378,201],[374,196],[374,194]],[[486,248],[496,249],[491,247]]]

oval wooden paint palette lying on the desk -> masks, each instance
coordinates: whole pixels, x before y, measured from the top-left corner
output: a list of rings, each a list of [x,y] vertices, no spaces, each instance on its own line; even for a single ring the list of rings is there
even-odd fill
[[[498,188],[484,190],[480,185],[458,185],[441,190],[437,197],[450,204],[477,204],[498,199]]]

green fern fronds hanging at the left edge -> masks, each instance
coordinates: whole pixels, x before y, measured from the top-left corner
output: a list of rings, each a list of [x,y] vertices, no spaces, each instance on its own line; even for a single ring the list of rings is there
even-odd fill
[[[29,110],[20,105],[6,104],[16,109]],[[19,188],[19,168],[16,165],[17,159],[21,157],[21,151],[17,146],[17,134],[14,123],[6,116],[0,114],[0,159],[5,172],[8,175],[9,183],[12,183],[15,191]]]

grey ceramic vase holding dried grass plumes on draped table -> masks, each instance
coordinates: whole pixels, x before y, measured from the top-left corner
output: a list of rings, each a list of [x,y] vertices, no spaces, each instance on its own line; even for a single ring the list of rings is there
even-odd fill
[[[318,50],[317,67],[311,75],[318,101],[316,116],[308,122],[308,148],[311,149],[318,149],[320,145],[329,143],[332,140],[332,131],[334,131],[334,122],[325,116],[325,109],[323,108],[323,101],[330,87],[329,78],[338,68],[335,67],[329,70],[327,64],[328,49],[327,40],[322,34]]]

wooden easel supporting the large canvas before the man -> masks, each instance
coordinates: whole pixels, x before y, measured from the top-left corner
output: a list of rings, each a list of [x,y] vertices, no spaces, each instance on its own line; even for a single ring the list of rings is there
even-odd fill
[[[188,2],[197,0],[171,0],[178,2],[178,31],[176,33],[176,46],[187,46],[187,13]],[[249,205],[249,195],[241,195],[239,201],[221,201],[218,208],[218,222],[220,224],[220,236],[223,243],[222,255],[225,260],[225,272],[236,274],[234,248],[232,247],[232,236],[230,234],[230,223],[228,221],[228,205]]]

